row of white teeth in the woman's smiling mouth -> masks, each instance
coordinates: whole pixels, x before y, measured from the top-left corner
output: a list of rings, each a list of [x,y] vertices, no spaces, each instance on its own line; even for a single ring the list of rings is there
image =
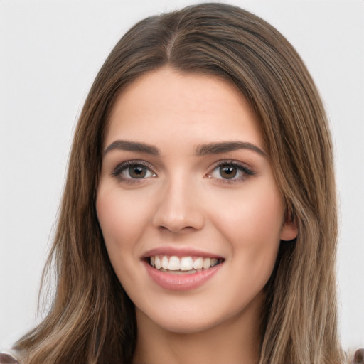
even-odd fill
[[[183,272],[196,272],[196,269],[208,269],[210,267],[215,267],[219,264],[220,259],[216,258],[203,258],[203,257],[176,257],[172,255],[171,257],[167,255],[155,255],[150,257],[151,267],[156,269],[162,269],[162,271],[183,271]]]

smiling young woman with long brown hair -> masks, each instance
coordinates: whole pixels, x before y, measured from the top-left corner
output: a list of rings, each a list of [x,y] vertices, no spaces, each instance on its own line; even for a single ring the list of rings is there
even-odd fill
[[[345,363],[335,194],[319,95],[281,34],[222,4],[141,21],[82,110],[57,292],[21,363]]]

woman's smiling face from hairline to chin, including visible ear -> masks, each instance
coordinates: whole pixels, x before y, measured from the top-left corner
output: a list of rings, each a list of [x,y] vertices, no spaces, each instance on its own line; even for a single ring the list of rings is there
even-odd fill
[[[245,98],[170,68],[114,105],[97,216],[137,319],[184,333],[257,316],[279,240],[296,237]]]

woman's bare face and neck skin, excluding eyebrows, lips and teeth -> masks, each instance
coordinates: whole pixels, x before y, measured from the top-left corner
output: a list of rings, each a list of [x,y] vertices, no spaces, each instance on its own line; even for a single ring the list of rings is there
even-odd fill
[[[297,229],[284,220],[284,201],[257,123],[234,85],[168,67],[140,77],[115,102],[97,216],[114,271],[136,306],[134,363],[259,360],[262,289],[279,241],[294,239]],[[155,146],[159,155],[108,149],[117,140]],[[200,144],[226,141],[250,143],[262,153],[196,155]],[[119,166],[135,160],[148,165],[144,178],[132,178],[128,167]],[[220,161],[236,176],[226,178],[216,166]],[[235,169],[232,161],[253,174]],[[202,286],[171,291],[151,279],[142,259],[166,246],[193,247],[224,260]]]

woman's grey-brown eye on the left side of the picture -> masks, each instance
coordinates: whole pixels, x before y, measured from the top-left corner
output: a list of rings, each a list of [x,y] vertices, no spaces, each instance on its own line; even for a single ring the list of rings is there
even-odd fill
[[[121,181],[134,183],[138,180],[156,177],[156,173],[145,161],[126,161],[119,164],[112,171],[112,176],[119,178]]]

